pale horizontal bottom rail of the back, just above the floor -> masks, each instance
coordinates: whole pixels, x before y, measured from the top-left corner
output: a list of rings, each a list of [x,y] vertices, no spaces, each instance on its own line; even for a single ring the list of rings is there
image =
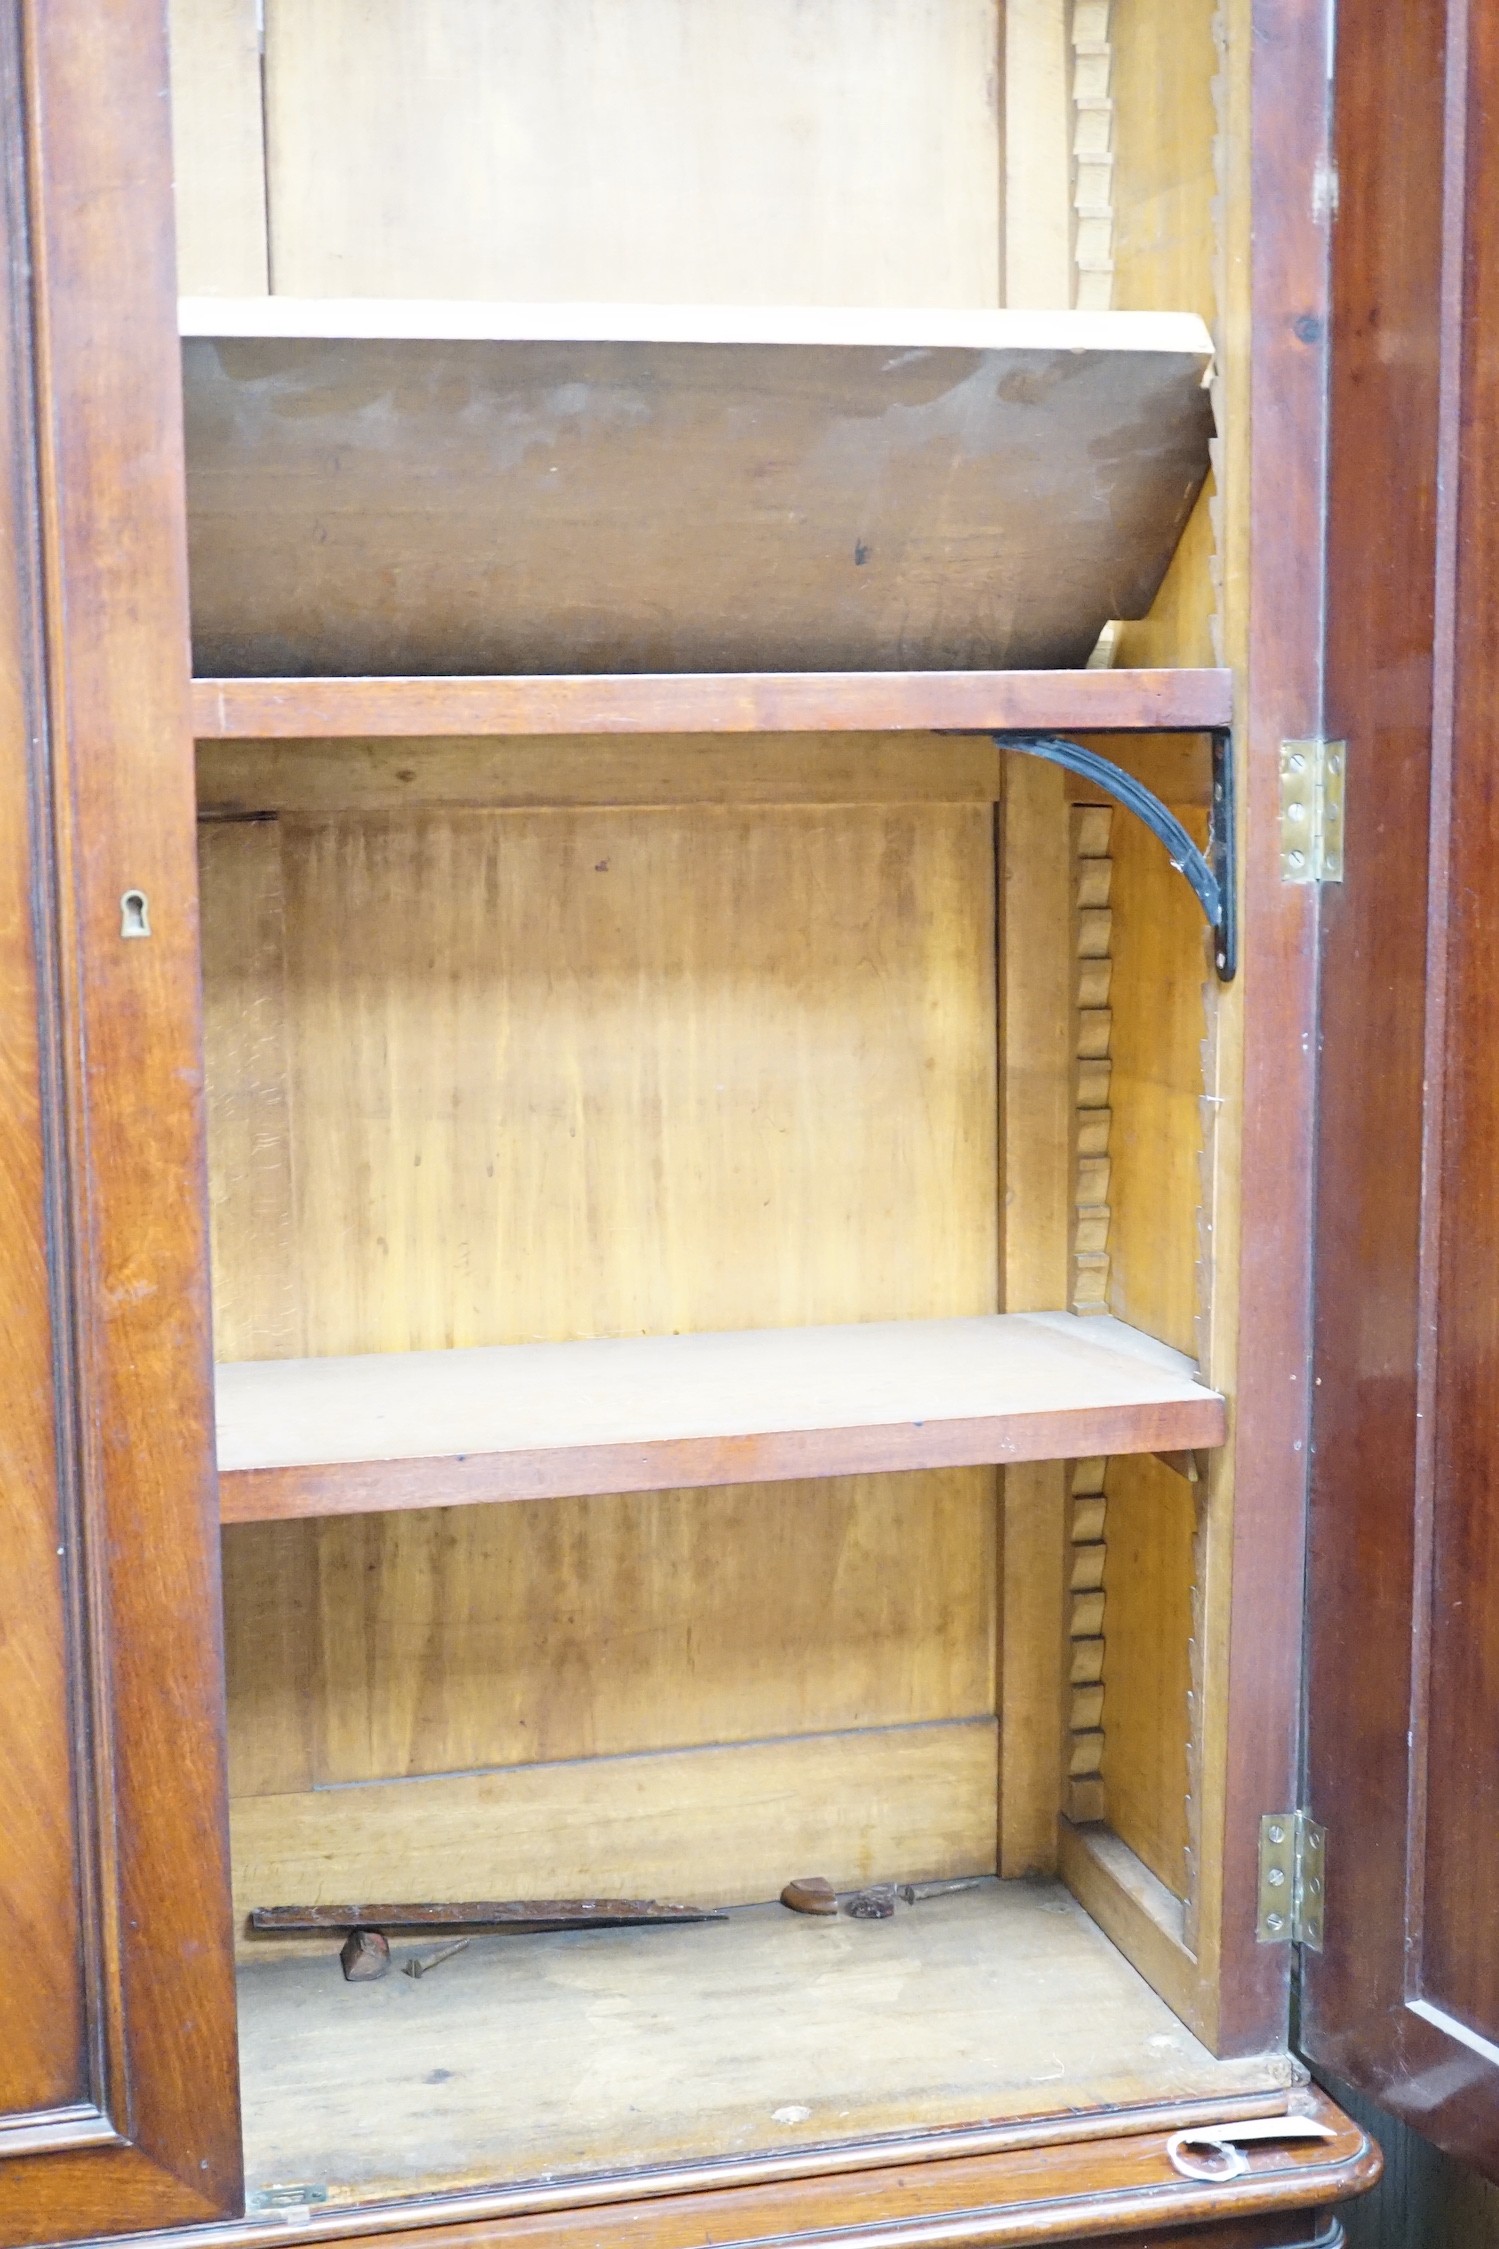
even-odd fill
[[[989,1716],[236,1797],[236,1912],[375,1887],[744,1905],[798,1871],[991,1873],[993,1797]]]

